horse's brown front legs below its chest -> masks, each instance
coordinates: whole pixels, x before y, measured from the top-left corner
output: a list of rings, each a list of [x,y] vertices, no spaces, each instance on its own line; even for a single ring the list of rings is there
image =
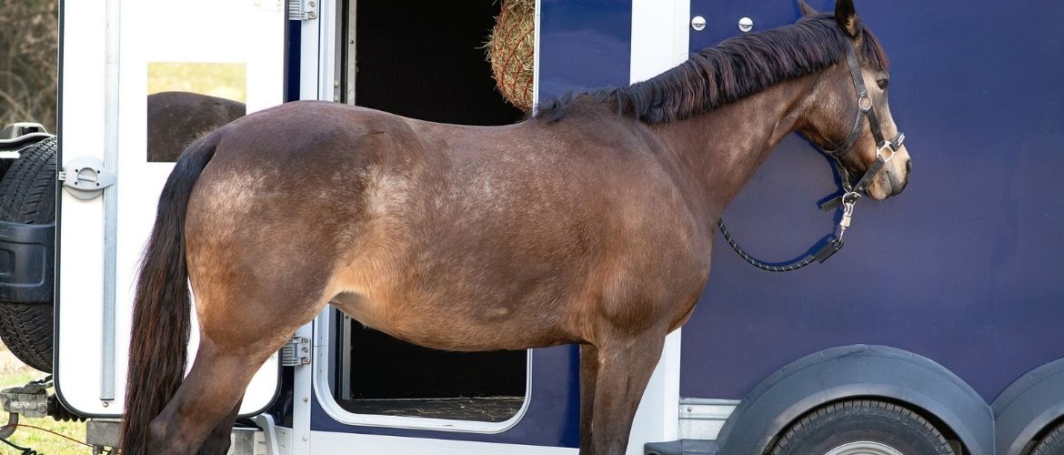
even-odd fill
[[[598,365],[594,381],[595,403],[592,406],[591,435],[581,418],[581,455],[624,454],[632,419],[639,406],[643,391],[661,358],[665,345],[664,330],[650,330],[633,336],[617,336],[599,342]],[[583,353],[581,353],[581,357]],[[581,359],[581,378],[585,361]],[[585,390],[581,386],[581,392]],[[581,402],[585,399],[581,397]],[[586,405],[581,406],[586,409]],[[589,436],[589,438],[587,438]]]

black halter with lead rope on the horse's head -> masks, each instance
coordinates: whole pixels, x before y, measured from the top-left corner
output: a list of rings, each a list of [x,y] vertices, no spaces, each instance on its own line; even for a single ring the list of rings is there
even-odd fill
[[[731,234],[728,232],[728,228],[725,226],[724,220],[717,221],[717,227],[720,228],[720,233],[724,234],[725,240],[728,245],[735,250],[735,253],[743,258],[750,265],[758,269],[768,271],[768,272],[791,272],[801,269],[805,265],[813,263],[813,261],[824,262],[827,261],[839,249],[843,249],[843,235],[846,233],[846,229],[850,227],[850,222],[853,217],[853,206],[857,205],[858,200],[861,199],[863,195],[868,194],[868,185],[871,184],[872,179],[883,168],[883,166],[894,159],[894,155],[899,148],[905,143],[905,134],[899,132],[894,139],[886,141],[883,139],[883,131],[880,129],[879,117],[876,115],[876,109],[872,107],[871,97],[868,95],[868,88],[864,84],[864,76],[861,74],[861,65],[858,63],[857,51],[853,49],[853,43],[849,40],[846,42],[846,62],[850,68],[850,76],[853,78],[853,86],[857,87],[858,93],[858,113],[853,119],[853,128],[850,130],[850,134],[846,136],[846,142],[833,150],[820,149],[825,155],[831,158],[831,164],[838,170],[839,183],[843,195],[835,197],[824,205],[820,206],[824,210],[834,210],[838,206],[843,207],[843,215],[838,220],[838,225],[836,225],[834,231],[826,238],[824,246],[821,246],[816,254],[809,255],[805,258],[794,260],[786,263],[767,263],[758,260],[757,258],[747,254],[743,248],[735,243]],[[872,139],[876,140],[876,161],[868,166],[865,170],[864,176],[858,181],[857,185],[850,183],[849,172],[846,170],[846,166],[843,165],[842,158],[849,153],[853,149],[853,145],[857,144],[858,140],[861,139],[862,128],[861,128],[861,117],[868,118],[868,128],[871,130]],[[887,152],[887,150],[890,150]]]

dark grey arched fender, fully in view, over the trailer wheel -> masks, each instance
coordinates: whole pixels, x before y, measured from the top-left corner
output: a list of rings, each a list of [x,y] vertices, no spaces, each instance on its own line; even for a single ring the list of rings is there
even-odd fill
[[[811,354],[762,380],[721,428],[720,453],[763,453],[805,412],[851,397],[904,404],[945,423],[972,455],[994,453],[991,408],[970,386],[926,357],[865,344]]]

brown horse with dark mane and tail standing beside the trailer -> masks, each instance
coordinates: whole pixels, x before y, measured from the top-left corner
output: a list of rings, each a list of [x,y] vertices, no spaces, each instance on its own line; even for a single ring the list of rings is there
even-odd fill
[[[580,343],[581,453],[621,453],[665,335],[709,277],[715,222],[769,151],[793,131],[852,143],[841,160],[860,175],[885,151],[869,132],[897,133],[885,55],[852,1],[801,6],[795,25],[517,125],[294,102],[194,144],[140,271],[124,453],[222,451],[252,374],[330,304],[440,350]],[[860,104],[878,125],[859,114],[851,134]],[[909,173],[886,145],[878,199]],[[201,341],[182,381],[186,278]]]

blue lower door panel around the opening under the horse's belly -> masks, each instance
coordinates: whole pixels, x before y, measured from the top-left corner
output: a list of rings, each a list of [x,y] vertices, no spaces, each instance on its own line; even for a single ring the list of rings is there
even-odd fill
[[[555,346],[532,354],[532,393],[529,409],[517,425],[498,435],[351,426],[333,420],[318,401],[311,407],[311,429],[414,438],[576,448],[580,444],[580,350]]]

